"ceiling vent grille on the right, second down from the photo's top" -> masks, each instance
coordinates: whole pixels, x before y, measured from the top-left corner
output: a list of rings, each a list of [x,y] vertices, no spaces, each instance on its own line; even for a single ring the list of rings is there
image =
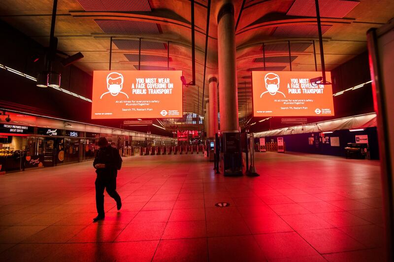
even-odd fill
[[[325,34],[332,26],[322,25],[322,34]],[[294,37],[318,37],[317,25],[287,25],[277,27],[274,36],[294,36]]]

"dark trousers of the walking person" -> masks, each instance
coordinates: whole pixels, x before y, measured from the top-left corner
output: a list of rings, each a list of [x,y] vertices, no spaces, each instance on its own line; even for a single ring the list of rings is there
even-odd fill
[[[104,215],[104,189],[110,197],[118,203],[121,201],[118,192],[116,192],[116,176],[97,176],[96,178],[96,208],[99,215]]]

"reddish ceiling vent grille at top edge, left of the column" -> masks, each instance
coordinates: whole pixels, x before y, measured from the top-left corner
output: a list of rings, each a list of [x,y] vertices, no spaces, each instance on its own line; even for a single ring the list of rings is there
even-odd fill
[[[150,12],[148,0],[78,0],[90,12]]]

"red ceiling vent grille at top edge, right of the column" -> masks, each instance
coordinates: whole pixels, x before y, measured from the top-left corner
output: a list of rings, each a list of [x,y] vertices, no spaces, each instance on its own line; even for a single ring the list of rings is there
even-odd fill
[[[344,18],[360,1],[319,0],[321,17]],[[296,0],[287,15],[316,17],[315,0]]]

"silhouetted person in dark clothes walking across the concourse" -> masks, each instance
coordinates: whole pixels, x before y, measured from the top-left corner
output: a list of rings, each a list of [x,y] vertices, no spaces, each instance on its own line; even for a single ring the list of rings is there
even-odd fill
[[[118,210],[122,207],[121,198],[116,192],[116,176],[122,166],[122,158],[117,149],[111,147],[105,137],[99,138],[99,151],[97,152],[93,166],[96,168],[96,208],[97,217],[94,222],[104,219],[104,189],[108,195],[115,199]]]

